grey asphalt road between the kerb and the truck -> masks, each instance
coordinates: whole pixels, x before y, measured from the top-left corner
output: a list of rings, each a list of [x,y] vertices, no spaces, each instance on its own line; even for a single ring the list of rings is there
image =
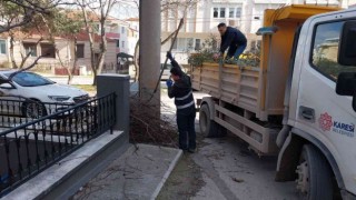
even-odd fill
[[[195,93],[195,98],[202,94]],[[161,94],[165,104],[174,110],[172,100]],[[167,112],[168,114],[168,112]],[[174,114],[168,114],[175,118]],[[199,116],[196,129],[199,130]],[[261,157],[248,150],[234,134],[207,139],[198,133],[198,151],[186,153],[158,199],[298,199],[294,182],[275,182],[276,157]]]

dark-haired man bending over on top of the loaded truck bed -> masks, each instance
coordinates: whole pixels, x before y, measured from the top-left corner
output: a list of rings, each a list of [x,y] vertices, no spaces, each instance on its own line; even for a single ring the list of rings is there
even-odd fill
[[[219,23],[218,30],[221,36],[220,52],[216,53],[214,58],[218,59],[219,57],[224,56],[226,49],[229,48],[226,60],[234,58],[234,60],[237,61],[247,46],[247,39],[245,34],[233,27],[226,27],[225,23]]]

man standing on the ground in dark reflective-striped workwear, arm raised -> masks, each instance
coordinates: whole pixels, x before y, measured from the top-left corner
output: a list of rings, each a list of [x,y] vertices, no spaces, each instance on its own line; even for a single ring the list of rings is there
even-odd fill
[[[177,126],[179,132],[179,149],[188,152],[196,150],[196,104],[192,97],[190,77],[179,67],[178,62],[167,52],[167,58],[172,66],[171,79],[167,80],[168,97],[175,98],[177,108]]]

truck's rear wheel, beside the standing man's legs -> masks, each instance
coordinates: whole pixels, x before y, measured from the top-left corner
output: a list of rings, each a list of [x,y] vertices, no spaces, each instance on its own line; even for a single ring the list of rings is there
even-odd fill
[[[202,104],[199,111],[199,127],[200,133],[206,138],[221,137],[219,132],[219,124],[210,120],[210,111],[207,104]]]

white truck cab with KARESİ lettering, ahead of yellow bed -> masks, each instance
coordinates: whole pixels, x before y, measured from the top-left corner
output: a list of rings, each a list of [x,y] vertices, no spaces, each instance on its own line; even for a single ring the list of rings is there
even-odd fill
[[[338,79],[345,79],[345,72],[356,74],[356,62],[350,62],[349,66],[338,62],[343,53],[355,57],[355,49],[354,52],[342,52],[340,50],[342,41],[346,42],[345,31],[356,34],[355,23],[348,28],[345,27],[356,19],[355,16],[356,10],[344,10],[309,18],[304,22],[298,33],[297,47],[291,56],[291,82],[287,86],[290,93],[286,93],[289,96],[287,123],[290,129],[288,139],[279,152],[277,179],[281,174],[283,166],[286,164],[281,163],[283,160],[294,154],[284,154],[286,151],[290,152],[293,148],[297,147],[293,151],[305,153],[305,157],[308,157],[308,153],[312,157],[310,151],[315,151],[316,154],[312,158],[299,157],[298,162],[294,161],[297,163],[299,177],[298,189],[304,193],[308,193],[310,190],[307,186],[310,184],[307,181],[310,176],[314,179],[319,177],[322,180],[330,176],[329,179],[335,177],[335,183],[342,189],[340,194],[344,199],[350,193],[355,198],[356,111],[353,108],[353,97],[336,92],[337,84],[339,84]],[[356,48],[355,41],[348,40],[347,42],[348,46]],[[355,83],[346,86],[348,90],[353,91],[356,91],[355,87]],[[299,156],[303,156],[300,153]],[[315,157],[322,157],[322,159],[318,160]],[[300,159],[304,160],[300,161]],[[310,161],[307,161],[308,159]],[[310,162],[317,167],[314,173],[323,174],[312,174],[313,169],[306,166]],[[324,169],[325,167],[319,167],[319,164],[328,167]],[[328,182],[330,181],[324,182],[325,188],[330,184]]]

